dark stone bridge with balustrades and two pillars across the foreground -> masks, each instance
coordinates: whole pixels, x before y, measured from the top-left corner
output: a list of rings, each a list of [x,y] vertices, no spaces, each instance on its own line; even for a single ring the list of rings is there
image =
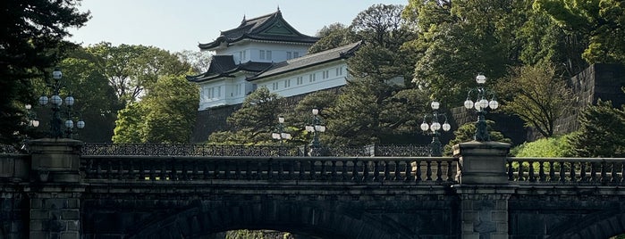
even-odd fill
[[[81,155],[40,139],[0,154],[0,238],[609,238],[625,159]],[[131,153],[126,153],[131,154]]]

